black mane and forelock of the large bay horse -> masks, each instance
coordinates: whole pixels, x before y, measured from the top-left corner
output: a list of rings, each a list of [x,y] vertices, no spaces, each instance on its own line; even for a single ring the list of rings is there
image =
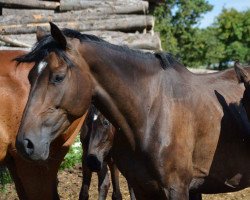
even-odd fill
[[[69,38],[77,38],[81,42],[94,42],[99,45],[114,49],[116,51],[122,51],[124,53],[133,54],[133,56],[145,58],[145,59],[159,59],[163,69],[173,67],[176,62],[178,62],[170,53],[166,52],[143,52],[139,50],[133,50],[127,46],[118,46],[111,44],[97,36],[89,34],[81,34],[78,31],[71,29],[63,29],[63,34]],[[40,62],[42,61],[50,52],[55,52],[59,57],[62,57],[69,66],[74,66],[73,62],[67,57],[65,51],[60,46],[60,44],[53,39],[51,35],[46,35],[40,41],[38,41],[31,52],[23,56],[17,57],[15,60],[17,62]]]

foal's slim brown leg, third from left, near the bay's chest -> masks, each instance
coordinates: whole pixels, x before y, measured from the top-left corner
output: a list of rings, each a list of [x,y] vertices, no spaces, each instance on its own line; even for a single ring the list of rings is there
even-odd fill
[[[112,200],[120,200],[122,199],[122,194],[120,191],[120,184],[119,184],[119,170],[117,166],[112,161],[112,158],[109,161],[109,169],[111,173],[111,181],[113,186],[113,193],[112,193]]]

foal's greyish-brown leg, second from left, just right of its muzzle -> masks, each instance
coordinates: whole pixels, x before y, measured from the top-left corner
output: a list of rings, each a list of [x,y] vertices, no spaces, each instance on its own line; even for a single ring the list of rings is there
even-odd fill
[[[99,190],[99,200],[105,200],[108,195],[108,190],[110,187],[108,166],[106,163],[103,164],[103,167],[98,175],[98,190]]]

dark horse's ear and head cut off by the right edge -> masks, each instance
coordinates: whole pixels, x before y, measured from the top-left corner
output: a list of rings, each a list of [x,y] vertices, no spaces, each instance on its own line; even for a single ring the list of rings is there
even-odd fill
[[[246,110],[248,120],[250,120],[250,77],[248,72],[243,67],[241,67],[237,61],[234,64],[234,69],[239,83],[244,83],[245,86],[245,91],[241,102]]]

